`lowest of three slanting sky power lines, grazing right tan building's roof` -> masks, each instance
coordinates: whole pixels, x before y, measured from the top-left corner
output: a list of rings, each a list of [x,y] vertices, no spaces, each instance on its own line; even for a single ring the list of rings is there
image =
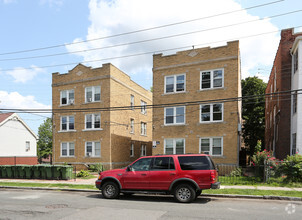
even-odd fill
[[[300,28],[302,26],[296,26],[293,28]],[[203,46],[203,45],[209,45],[209,44],[216,44],[216,43],[224,43],[226,41],[234,41],[238,39],[245,39],[245,38],[251,38],[251,37],[257,37],[257,36],[262,36],[266,34],[272,34],[272,33],[277,33],[280,32],[282,29],[279,29],[277,31],[270,31],[270,32],[263,32],[259,34],[254,34],[254,35],[248,35],[248,36],[241,36],[241,37],[236,37],[236,38],[231,38],[227,40],[220,40],[220,41],[215,41],[215,42],[208,42],[208,43],[202,43],[202,44],[197,44],[195,46]],[[148,54],[158,54],[158,53],[163,53],[163,52],[168,52],[168,51],[174,51],[174,50],[182,50],[182,49],[188,49],[192,48],[192,45],[190,46],[183,46],[183,47],[176,47],[176,48],[170,48],[170,49],[163,49],[163,50],[158,50],[158,51],[149,51],[149,52],[143,52],[143,53],[136,53],[136,54],[128,54],[128,55],[123,55],[123,56],[117,56],[117,57],[108,57],[108,58],[103,58],[103,59],[97,59],[97,60],[88,60],[88,61],[82,61],[82,62],[74,62],[74,63],[64,63],[64,64],[55,64],[55,65],[46,65],[46,66],[36,66],[36,67],[24,67],[21,68],[22,70],[28,70],[28,69],[44,69],[44,68],[52,68],[52,67],[60,67],[60,66],[67,66],[67,65],[77,65],[79,63],[93,63],[93,62],[100,62],[100,61],[105,61],[105,60],[114,60],[114,59],[122,59],[122,58],[129,58],[129,57],[135,57],[135,56],[142,56],[142,55],[148,55]],[[2,69],[2,71],[15,71],[18,69]]]

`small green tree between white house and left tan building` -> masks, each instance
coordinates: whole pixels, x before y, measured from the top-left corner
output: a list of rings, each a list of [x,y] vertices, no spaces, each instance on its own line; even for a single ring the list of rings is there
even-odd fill
[[[52,119],[47,118],[38,130],[37,153],[38,160],[41,163],[42,158],[46,159],[52,156]]]

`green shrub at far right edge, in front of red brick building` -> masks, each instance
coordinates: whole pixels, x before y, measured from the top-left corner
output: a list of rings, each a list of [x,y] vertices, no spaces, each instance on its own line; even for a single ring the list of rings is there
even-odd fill
[[[302,182],[302,155],[287,156],[279,165],[278,172],[285,175],[285,182]]]

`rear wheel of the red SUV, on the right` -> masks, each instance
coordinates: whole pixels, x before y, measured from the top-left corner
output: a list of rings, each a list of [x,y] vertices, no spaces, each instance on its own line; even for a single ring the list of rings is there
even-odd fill
[[[189,184],[180,184],[174,190],[174,198],[181,203],[192,202],[196,197],[196,191]]]

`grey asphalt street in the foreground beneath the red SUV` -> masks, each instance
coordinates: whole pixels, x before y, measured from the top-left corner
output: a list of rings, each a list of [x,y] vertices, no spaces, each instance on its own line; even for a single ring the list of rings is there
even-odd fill
[[[180,204],[172,196],[1,189],[0,219],[302,219],[302,202],[201,196]]]

